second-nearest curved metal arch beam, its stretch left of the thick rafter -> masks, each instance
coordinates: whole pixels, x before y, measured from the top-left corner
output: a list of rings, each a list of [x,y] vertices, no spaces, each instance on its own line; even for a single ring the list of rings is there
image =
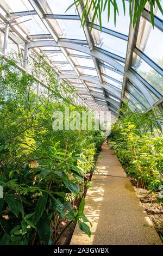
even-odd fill
[[[90,82],[90,83],[95,83],[97,84],[98,86],[101,86],[107,90],[109,90],[109,92],[112,94],[112,95],[115,95],[115,96],[118,96],[118,97],[121,97],[121,90],[118,89],[118,88],[112,88],[108,83],[100,83],[98,81],[98,79],[96,78],[93,78],[91,76],[88,76],[88,75],[80,75],[79,77],[77,77],[76,75],[71,75],[71,74],[65,74],[65,75],[58,75],[57,76],[57,79],[60,80],[60,79],[80,79],[80,80],[84,80],[84,81],[87,81],[87,82]]]

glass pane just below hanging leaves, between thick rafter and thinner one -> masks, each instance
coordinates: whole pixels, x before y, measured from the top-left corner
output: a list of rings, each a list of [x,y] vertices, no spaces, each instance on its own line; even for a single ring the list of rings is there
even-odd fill
[[[96,31],[97,29],[93,28],[92,31]],[[101,47],[104,50],[114,53],[123,58],[126,57],[127,50],[127,41],[124,41],[120,38],[116,38],[115,36],[106,34],[104,32],[100,34],[100,42],[95,40],[95,46]],[[121,47],[120,47],[121,45]]]

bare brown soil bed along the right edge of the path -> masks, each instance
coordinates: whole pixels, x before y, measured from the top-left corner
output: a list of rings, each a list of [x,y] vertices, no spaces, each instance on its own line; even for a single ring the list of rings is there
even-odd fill
[[[158,193],[137,187],[135,180],[128,178],[163,243],[163,204],[158,200]]]

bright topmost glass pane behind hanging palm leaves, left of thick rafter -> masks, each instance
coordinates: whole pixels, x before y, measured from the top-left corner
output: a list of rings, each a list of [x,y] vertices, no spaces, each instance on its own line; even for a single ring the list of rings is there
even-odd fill
[[[122,0],[117,0],[119,15],[117,15],[116,26],[114,25],[114,8],[110,8],[110,19],[108,22],[108,4],[106,5],[105,11],[102,13],[102,26],[109,28],[113,31],[117,31],[122,34],[128,35],[129,31],[129,3],[126,3],[126,15],[124,16]],[[127,1],[126,1],[127,2]],[[95,24],[99,25],[99,21],[96,19]]]

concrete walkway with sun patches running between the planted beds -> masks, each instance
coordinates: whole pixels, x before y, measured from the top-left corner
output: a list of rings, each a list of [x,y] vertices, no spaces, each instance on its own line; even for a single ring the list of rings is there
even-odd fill
[[[86,194],[85,216],[91,237],[74,230],[70,245],[162,245],[133,186],[105,143]]]

